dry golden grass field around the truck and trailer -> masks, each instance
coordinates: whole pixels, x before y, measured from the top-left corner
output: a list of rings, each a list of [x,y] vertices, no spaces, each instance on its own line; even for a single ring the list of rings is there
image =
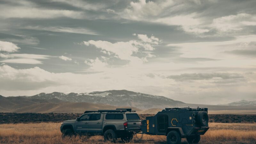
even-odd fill
[[[140,135],[138,135],[140,137]],[[121,141],[119,141],[121,142]],[[0,143],[7,144],[85,144],[108,143],[102,136],[61,138],[60,123],[1,124]],[[134,137],[131,143],[166,143],[165,136]],[[185,139],[182,140],[186,144]],[[256,124],[210,123],[210,130],[201,137],[201,144],[256,143]]]

